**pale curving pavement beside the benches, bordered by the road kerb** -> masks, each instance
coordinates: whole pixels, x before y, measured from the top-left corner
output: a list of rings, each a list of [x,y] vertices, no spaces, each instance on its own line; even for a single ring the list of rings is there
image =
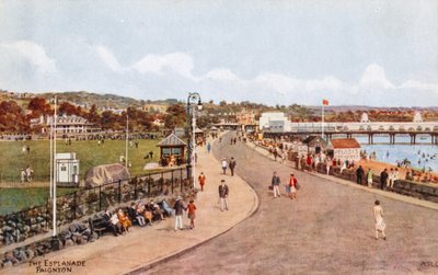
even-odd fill
[[[174,255],[195,248],[215,238],[250,217],[258,207],[255,192],[239,176],[221,175],[220,163],[204,148],[198,149],[196,173],[204,172],[207,181],[205,191],[199,192],[195,205],[198,210],[194,230],[174,231],[174,219],[166,219],[153,227],[132,227],[120,237],[106,234],[96,242],[64,249],[34,263],[44,261],[85,261],[84,267],[73,267],[72,274],[126,274],[142,273],[147,268],[172,259]],[[218,186],[224,179],[230,187],[229,210],[220,211]],[[184,224],[189,222],[184,215]],[[22,264],[1,274],[35,274],[36,266]],[[56,274],[56,273],[53,273]]]

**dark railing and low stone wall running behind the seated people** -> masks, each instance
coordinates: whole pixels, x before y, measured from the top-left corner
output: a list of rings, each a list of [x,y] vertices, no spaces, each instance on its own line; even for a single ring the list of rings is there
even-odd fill
[[[186,169],[132,177],[57,198],[57,226],[65,226],[107,207],[189,187]],[[0,216],[0,248],[48,232],[53,228],[53,203]]]

